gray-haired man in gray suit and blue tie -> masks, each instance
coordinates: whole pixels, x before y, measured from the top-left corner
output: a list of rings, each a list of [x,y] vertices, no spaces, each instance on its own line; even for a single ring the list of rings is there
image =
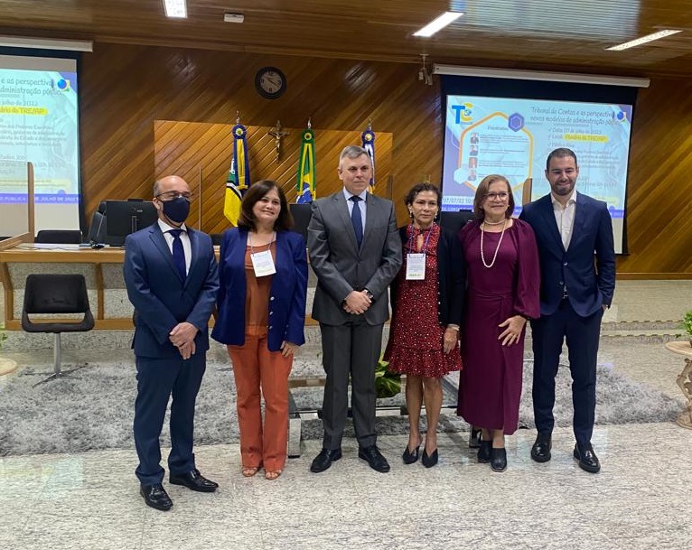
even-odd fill
[[[358,456],[376,471],[389,471],[375,433],[375,366],[382,325],[389,316],[387,288],[401,266],[394,206],[368,192],[372,164],[365,149],[341,151],[343,189],[313,202],[307,228],[310,262],[317,275],[313,319],[320,322],[324,387],[323,450],[310,470],[321,472],[341,458],[341,437],[351,408]]]

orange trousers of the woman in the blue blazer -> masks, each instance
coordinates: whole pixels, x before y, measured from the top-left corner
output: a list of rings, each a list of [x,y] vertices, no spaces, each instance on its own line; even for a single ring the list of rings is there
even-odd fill
[[[288,444],[288,375],[293,356],[267,349],[267,336],[245,335],[228,346],[236,380],[240,456],[243,468],[284,469]],[[260,396],[265,398],[262,424]]]

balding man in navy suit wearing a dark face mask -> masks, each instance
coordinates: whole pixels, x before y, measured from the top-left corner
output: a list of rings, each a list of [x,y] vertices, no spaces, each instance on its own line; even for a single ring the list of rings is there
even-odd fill
[[[173,506],[162,485],[159,444],[172,395],[170,482],[201,492],[219,487],[201,476],[192,453],[194,403],[206,368],[207,324],[219,272],[209,235],[185,226],[191,200],[182,178],[166,176],[155,182],[158,220],[125,241],[123,273],[135,306],[136,476],[145,503],[159,510]]]

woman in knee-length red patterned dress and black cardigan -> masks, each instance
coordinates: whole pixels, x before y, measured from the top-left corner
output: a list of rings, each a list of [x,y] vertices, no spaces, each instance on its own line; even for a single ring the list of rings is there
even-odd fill
[[[405,199],[411,223],[399,230],[404,263],[391,284],[392,322],[385,359],[389,370],[407,375],[410,433],[402,456],[418,460],[420,411],[425,401],[427,432],[421,461],[435,466],[437,420],[442,408],[440,378],[462,368],[459,325],[462,320],[464,269],[462,247],[451,231],[435,224],[440,191],[418,183]]]

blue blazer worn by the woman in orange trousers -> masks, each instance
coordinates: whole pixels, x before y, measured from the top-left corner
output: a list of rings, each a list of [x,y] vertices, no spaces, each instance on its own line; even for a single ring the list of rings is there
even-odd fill
[[[245,297],[247,292],[245,251],[248,231],[231,228],[223,233],[220,254],[219,313],[211,338],[223,344],[245,343]],[[305,343],[305,296],[307,255],[305,241],[293,231],[276,232],[276,274],[269,292],[267,348],[281,349],[286,340]]]

